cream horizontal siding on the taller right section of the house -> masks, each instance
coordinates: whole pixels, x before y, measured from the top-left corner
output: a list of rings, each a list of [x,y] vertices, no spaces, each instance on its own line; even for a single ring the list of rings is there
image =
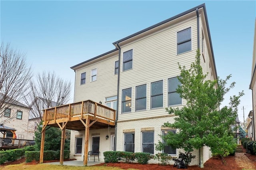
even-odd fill
[[[187,68],[195,60],[197,49],[197,22],[191,18],[186,22],[170,26],[169,28],[147,36],[136,42],[121,47],[120,59],[120,92],[122,89],[132,87],[132,112],[121,114],[119,105],[118,120],[146,118],[166,115],[167,107],[167,79],[180,75],[178,62]],[[192,27],[192,51],[176,55],[176,32]],[[133,69],[122,72],[122,53],[133,49]],[[150,109],[150,83],[164,80],[164,108]],[[147,84],[147,111],[135,112],[135,87]],[[183,101],[186,104],[186,101]]]

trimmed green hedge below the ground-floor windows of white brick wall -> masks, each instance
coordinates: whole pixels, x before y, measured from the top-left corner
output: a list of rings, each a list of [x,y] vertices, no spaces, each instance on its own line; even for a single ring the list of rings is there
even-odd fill
[[[103,152],[104,162],[106,163],[116,163],[120,160],[124,160],[125,162],[130,162],[130,160],[137,160],[139,164],[147,164],[148,161],[152,158],[150,153],[142,153],[142,152],[122,152],[122,151],[106,151]]]

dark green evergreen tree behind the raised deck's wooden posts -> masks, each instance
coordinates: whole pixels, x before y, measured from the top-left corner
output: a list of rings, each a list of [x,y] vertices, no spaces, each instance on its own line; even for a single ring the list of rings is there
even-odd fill
[[[42,137],[42,122],[38,124],[35,132],[35,148],[40,150],[41,137]],[[69,150],[70,145],[70,130],[66,130],[65,146],[64,149]],[[61,130],[55,127],[46,127],[45,139],[44,139],[44,150],[60,150],[61,144]]]

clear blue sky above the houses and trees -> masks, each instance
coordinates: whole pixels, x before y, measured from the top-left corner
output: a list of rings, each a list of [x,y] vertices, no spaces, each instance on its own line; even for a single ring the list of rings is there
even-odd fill
[[[217,74],[232,74],[236,86],[226,96],[244,91],[240,122],[252,110],[249,89],[256,1],[4,1],[0,0],[0,40],[26,53],[34,75],[54,71],[72,83],[70,67],[114,49],[113,42],[200,4],[206,12]],[[72,103],[73,97],[70,100]],[[244,110],[243,110],[244,107]]]

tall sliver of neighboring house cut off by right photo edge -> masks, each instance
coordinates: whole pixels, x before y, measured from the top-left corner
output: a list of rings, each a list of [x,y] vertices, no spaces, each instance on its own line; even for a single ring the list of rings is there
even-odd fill
[[[255,134],[255,121],[256,121],[256,19],[254,27],[254,43],[253,43],[253,53],[252,53],[252,77],[250,83],[250,89],[252,90],[252,140],[256,140]]]

